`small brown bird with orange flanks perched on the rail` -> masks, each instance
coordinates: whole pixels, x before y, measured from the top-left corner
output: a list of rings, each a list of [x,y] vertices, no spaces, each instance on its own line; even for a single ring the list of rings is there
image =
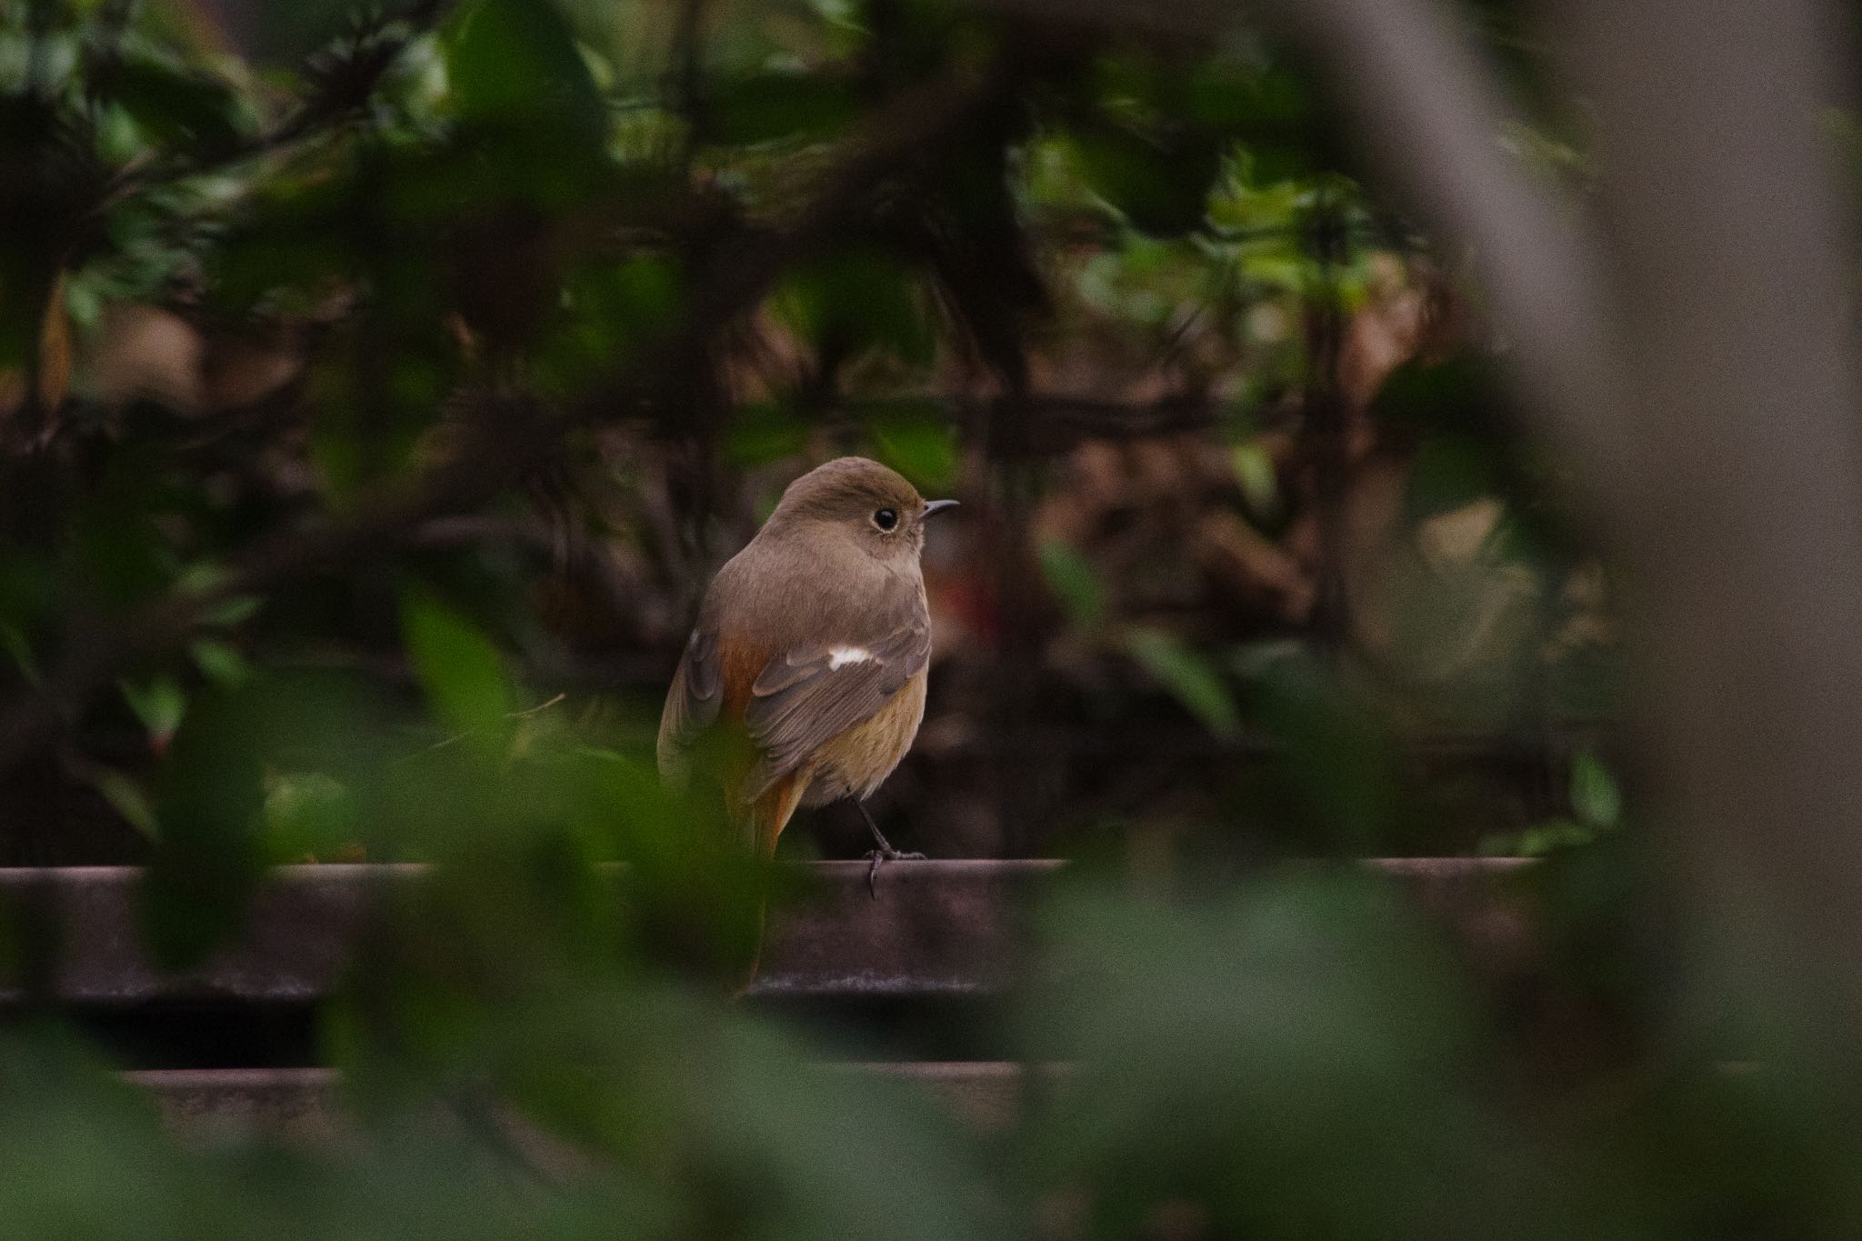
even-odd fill
[[[866,458],[821,465],[782,493],[756,538],[719,569],[659,716],[659,772],[683,781],[715,726],[749,744],[721,772],[732,815],[769,858],[799,806],[853,798],[881,861],[901,854],[860,802],[918,735],[931,610],[925,500]]]

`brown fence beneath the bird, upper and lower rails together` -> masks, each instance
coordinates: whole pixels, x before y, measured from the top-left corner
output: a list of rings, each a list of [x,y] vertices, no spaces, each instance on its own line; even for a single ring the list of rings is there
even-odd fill
[[[1525,960],[1532,940],[1508,876],[1518,858],[1389,858],[1387,874],[1490,966]],[[849,1072],[903,1075],[978,1126],[1007,1124],[1026,1068],[1000,1049],[920,1036],[951,1007],[987,1003],[1030,964],[1026,914],[1061,861],[803,863],[812,895],[771,915],[749,1003],[840,1027],[890,1023],[901,1061]],[[89,1029],[164,1118],[190,1133],[324,1141],[343,1128],[341,1083],[320,1064],[317,1007],[341,984],[369,919],[413,865],[283,867],[261,887],[246,934],[188,973],[143,951],[132,867],[0,869],[0,910],[30,917],[50,945],[34,984],[0,979],[0,1014],[50,1005]],[[875,1014],[879,1014],[875,1018]],[[927,1014],[929,1020],[927,1020]],[[1048,1070],[1059,1072],[1059,1070]]]

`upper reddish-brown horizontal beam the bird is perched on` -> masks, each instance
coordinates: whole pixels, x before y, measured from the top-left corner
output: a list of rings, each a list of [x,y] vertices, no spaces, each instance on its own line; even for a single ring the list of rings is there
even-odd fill
[[[1024,962],[1022,917],[1061,861],[897,861],[868,889],[864,861],[801,863],[812,895],[771,915],[758,997],[940,997],[989,992]],[[1372,865],[1475,940],[1518,934],[1495,880],[1512,858],[1408,858]],[[37,982],[0,977],[0,1005],[309,1005],[330,995],[369,917],[412,865],[281,867],[246,934],[199,969],[164,973],[143,951],[134,867],[0,869],[0,910],[50,945]]]

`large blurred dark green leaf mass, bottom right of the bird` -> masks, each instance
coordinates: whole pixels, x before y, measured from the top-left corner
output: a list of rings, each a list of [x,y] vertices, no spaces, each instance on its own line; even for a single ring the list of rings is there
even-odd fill
[[[1372,880],[1300,871],[1164,906],[1048,912],[1059,982],[1024,1014],[1078,1064],[1037,1122],[1082,1235],[1599,1237],[1583,1168],[1503,1120],[1454,967]]]

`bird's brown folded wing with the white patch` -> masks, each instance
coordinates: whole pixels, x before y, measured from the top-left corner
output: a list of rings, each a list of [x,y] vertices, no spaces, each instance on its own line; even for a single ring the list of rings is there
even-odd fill
[[[771,659],[743,713],[750,741],[763,754],[747,796],[760,796],[829,739],[879,711],[929,659],[931,623],[916,608],[875,636],[821,642]]]

